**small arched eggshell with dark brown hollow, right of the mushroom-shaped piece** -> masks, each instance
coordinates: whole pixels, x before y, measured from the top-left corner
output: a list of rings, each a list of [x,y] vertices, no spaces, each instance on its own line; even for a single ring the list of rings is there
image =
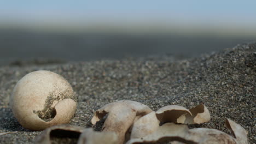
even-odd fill
[[[192,116],[191,112],[188,109],[178,105],[164,106],[155,113],[159,121],[163,123],[184,123],[185,117],[181,116],[184,116],[185,114]]]

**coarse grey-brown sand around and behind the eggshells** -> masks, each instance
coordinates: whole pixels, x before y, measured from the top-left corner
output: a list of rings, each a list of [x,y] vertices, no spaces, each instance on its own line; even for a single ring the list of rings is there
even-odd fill
[[[0,67],[0,143],[32,143],[40,131],[21,127],[9,108],[9,97],[21,77],[34,70],[50,70],[71,83],[79,100],[70,124],[91,127],[94,111],[117,100],[135,100],[158,110],[166,105],[187,108],[203,103],[211,122],[190,127],[215,128],[229,133],[230,118],[255,142],[256,43],[237,45],[197,58],[125,58],[116,61],[23,64]],[[230,133],[229,133],[230,134]]]

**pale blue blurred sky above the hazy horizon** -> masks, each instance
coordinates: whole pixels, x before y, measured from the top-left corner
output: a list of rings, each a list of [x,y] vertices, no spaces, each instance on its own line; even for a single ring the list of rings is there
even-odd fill
[[[0,0],[1,21],[160,21],[256,25],[256,1]]]

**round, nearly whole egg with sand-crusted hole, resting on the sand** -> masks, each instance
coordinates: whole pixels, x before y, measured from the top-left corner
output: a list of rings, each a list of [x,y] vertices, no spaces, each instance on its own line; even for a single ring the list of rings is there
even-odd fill
[[[10,97],[10,107],[22,127],[44,130],[73,117],[77,98],[71,85],[51,71],[33,71],[22,77]]]

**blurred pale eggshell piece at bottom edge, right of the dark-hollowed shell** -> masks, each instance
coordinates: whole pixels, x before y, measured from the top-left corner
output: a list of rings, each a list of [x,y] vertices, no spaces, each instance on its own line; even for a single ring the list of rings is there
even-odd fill
[[[111,131],[94,131],[92,128],[85,129],[80,135],[77,144],[94,144],[94,143],[104,143],[104,144],[117,144],[118,136]]]

